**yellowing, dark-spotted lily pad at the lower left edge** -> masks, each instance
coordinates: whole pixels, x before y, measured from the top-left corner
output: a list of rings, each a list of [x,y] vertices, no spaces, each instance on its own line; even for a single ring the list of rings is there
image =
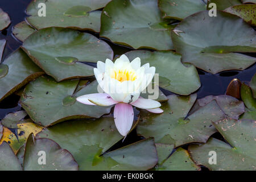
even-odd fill
[[[3,136],[0,140],[0,144],[3,142],[9,143],[15,154],[18,152],[19,148],[26,143],[27,138],[31,133],[37,134],[43,129],[43,127],[33,123],[31,119],[16,122],[18,124],[16,124],[17,126],[13,130],[3,127]]]

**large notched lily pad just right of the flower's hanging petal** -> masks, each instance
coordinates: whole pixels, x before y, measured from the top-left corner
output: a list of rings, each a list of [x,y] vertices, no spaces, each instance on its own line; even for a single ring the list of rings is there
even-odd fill
[[[139,135],[154,137],[156,143],[174,143],[175,146],[206,142],[210,135],[216,132],[211,122],[225,118],[216,101],[209,102],[187,116],[196,101],[196,94],[171,95],[167,98],[168,102],[160,107],[164,110],[162,114],[151,114],[141,110],[141,122],[137,126]]]

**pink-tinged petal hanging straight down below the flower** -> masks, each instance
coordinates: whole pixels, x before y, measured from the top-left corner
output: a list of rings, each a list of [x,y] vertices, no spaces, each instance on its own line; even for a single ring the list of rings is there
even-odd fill
[[[114,121],[115,126],[121,135],[126,136],[129,133],[131,126],[133,126],[133,119],[133,106],[125,103],[118,103],[115,105]]]

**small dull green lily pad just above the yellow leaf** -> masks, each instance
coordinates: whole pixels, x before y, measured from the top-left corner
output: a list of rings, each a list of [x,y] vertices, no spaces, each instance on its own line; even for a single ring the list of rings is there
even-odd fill
[[[26,117],[26,115],[27,113],[24,110],[16,111],[15,113],[9,113],[5,118],[1,120],[1,123],[5,127],[15,129],[17,128],[18,123],[21,123],[21,120]]]

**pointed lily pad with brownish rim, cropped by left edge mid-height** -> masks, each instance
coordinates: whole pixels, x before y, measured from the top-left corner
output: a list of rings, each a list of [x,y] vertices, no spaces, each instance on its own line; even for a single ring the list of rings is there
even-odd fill
[[[0,66],[0,101],[34,78],[44,74],[42,69],[34,64],[22,49],[13,52],[0,65],[2,65]],[[1,68],[5,72],[3,75],[1,74]]]

